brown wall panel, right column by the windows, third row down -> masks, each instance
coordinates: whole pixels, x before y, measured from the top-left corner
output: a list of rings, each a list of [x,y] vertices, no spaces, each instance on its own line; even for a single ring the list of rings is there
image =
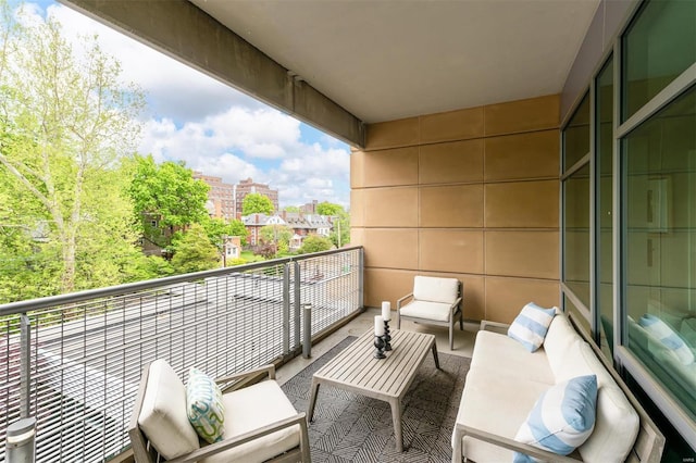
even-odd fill
[[[487,184],[485,226],[557,228],[558,180]]]

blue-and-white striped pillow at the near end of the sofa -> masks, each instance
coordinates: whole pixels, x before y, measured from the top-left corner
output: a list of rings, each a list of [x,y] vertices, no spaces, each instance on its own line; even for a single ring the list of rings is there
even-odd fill
[[[568,455],[587,440],[595,428],[597,376],[577,376],[542,393],[514,440]],[[514,463],[535,462],[514,453]]]

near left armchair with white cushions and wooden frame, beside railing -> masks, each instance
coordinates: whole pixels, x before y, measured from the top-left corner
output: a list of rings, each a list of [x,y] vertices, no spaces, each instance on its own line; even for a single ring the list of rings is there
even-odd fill
[[[261,375],[266,380],[250,384]],[[304,413],[297,413],[266,365],[215,380],[223,387],[223,440],[199,440],[186,415],[186,389],[164,360],[145,367],[128,436],[136,463],[310,462]],[[224,387],[222,385],[231,385]]]

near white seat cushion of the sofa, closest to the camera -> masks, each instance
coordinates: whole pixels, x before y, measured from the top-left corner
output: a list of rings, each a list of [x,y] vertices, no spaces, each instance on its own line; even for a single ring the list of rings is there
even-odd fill
[[[521,346],[518,347],[530,355]],[[467,374],[457,423],[512,439],[536,400],[549,387],[534,380],[512,384],[494,370],[472,364]],[[470,437],[462,439],[462,454],[477,463],[511,462],[514,455],[512,451]]]

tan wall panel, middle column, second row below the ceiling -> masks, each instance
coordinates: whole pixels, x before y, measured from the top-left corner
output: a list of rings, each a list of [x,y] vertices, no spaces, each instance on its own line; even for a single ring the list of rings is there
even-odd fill
[[[483,149],[483,139],[421,146],[419,183],[482,182]]]

